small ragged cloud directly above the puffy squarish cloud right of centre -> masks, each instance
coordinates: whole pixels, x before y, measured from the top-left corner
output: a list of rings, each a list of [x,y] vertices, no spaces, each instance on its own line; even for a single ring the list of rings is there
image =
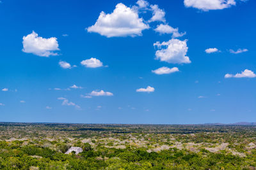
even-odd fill
[[[160,34],[172,34],[172,38],[181,37],[186,34],[186,32],[180,33],[178,28],[173,28],[168,24],[157,25],[156,29],[154,30]]]

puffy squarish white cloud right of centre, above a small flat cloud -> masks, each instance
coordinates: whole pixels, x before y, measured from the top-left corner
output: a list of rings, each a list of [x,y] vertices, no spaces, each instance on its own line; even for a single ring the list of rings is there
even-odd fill
[[[179,39],[170,39],[154,43],[159,50],[156,51],[156,59],[173,64],[190,63],[189,57],[186,56],[188,52],[187,40],[181,41]]]

